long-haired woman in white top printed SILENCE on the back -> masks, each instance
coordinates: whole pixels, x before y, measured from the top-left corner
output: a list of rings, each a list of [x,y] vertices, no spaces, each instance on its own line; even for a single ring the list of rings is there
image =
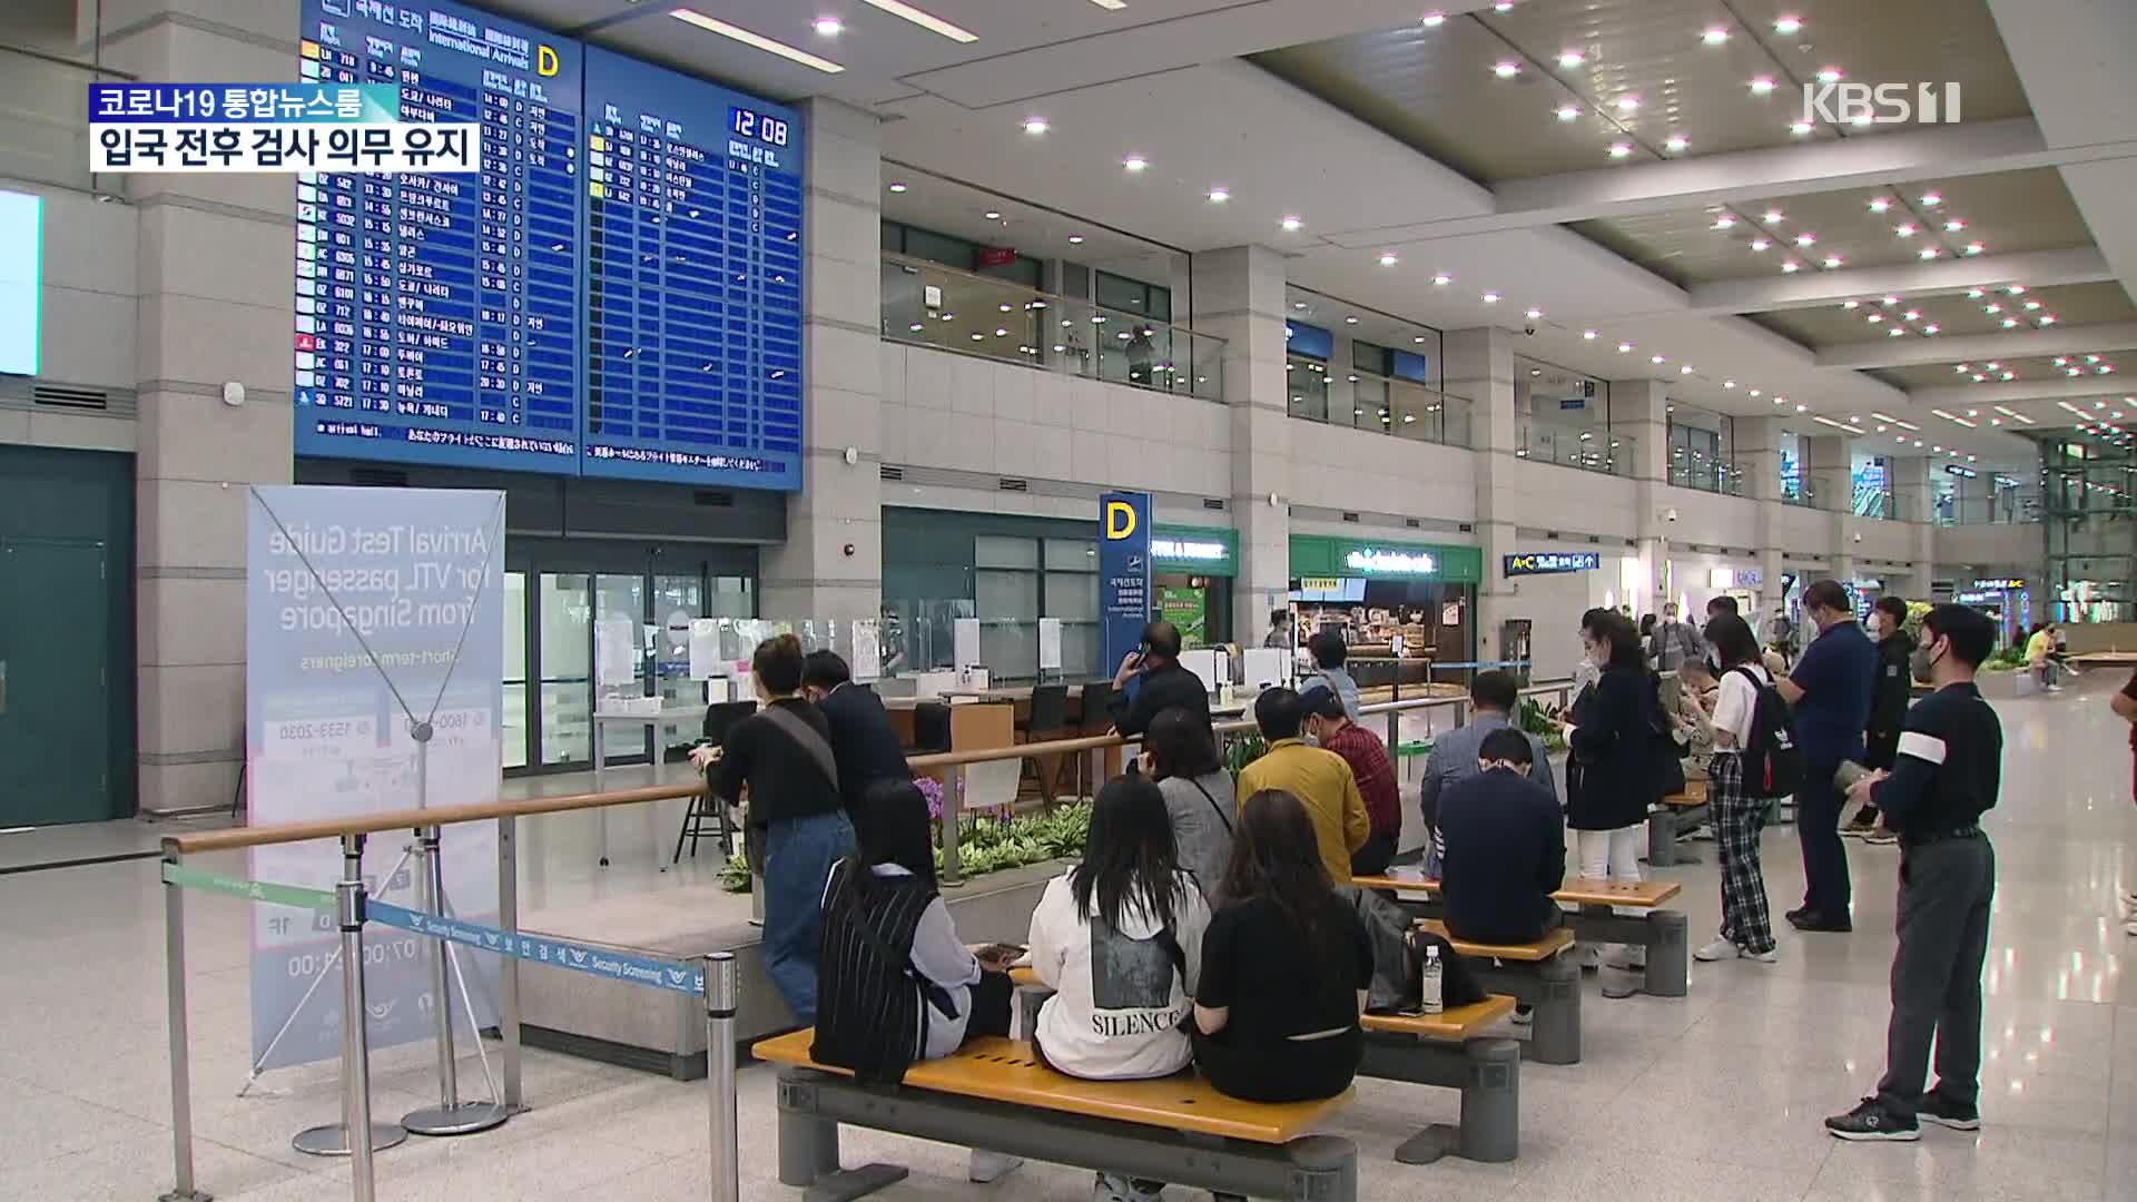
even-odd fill
[[[1090,808],[1083,860],[1047,881],[1032,909],[1032,971],[1056,990],[1032,1052],[1090,1080],[1171,1076],[1195,1059],[1192,1014],[1210,905],[1180,866],[1165,791],[1116,776]],[[1150,1202],[1158,1181],[1098,1172],[1096,1202]]]

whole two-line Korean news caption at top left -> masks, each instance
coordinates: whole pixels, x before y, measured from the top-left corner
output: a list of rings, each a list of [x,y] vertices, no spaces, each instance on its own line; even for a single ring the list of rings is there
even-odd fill
[[[400,83],[90,83],[90,171],[481,171],[479,122],[402,120]]]

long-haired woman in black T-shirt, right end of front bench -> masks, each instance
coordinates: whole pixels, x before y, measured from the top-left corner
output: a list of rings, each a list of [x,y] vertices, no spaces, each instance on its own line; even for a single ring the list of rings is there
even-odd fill
[[[1218,1093],[1246,1101],[1351,1089],[1372,939],[1336,894],[1297,798],[1267,789],[1246,800],[1222,896],[1195,984],[1195,1063]]]

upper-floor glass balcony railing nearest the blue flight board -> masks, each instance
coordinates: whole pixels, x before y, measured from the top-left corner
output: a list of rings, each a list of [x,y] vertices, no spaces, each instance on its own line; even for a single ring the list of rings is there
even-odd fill
[[[1225,400],[1222,338],[906,255],[883,255],[883,336],[1071,376]]]

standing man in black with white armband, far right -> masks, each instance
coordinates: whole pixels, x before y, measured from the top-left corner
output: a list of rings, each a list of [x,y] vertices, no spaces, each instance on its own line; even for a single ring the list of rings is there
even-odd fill
[[[1964,605],[1930,610],[1913,669],[1936,693],[1908,710],[1891,776],[1872,772],[1849,789],[1900,832],[1900,950],[1885,1080],[1861,1106],[1825,1121],[1842,1140],[1919,1140],[1921,1121],[1960,1131],[1981,1125],[1981,962],[1996,849],[1979,823],[1996,806],[2002,723],[1975,689],[1975,669],[1994,642],[1985,616]],[[1932,1037],[1936,1089],[1923,1093]]]

